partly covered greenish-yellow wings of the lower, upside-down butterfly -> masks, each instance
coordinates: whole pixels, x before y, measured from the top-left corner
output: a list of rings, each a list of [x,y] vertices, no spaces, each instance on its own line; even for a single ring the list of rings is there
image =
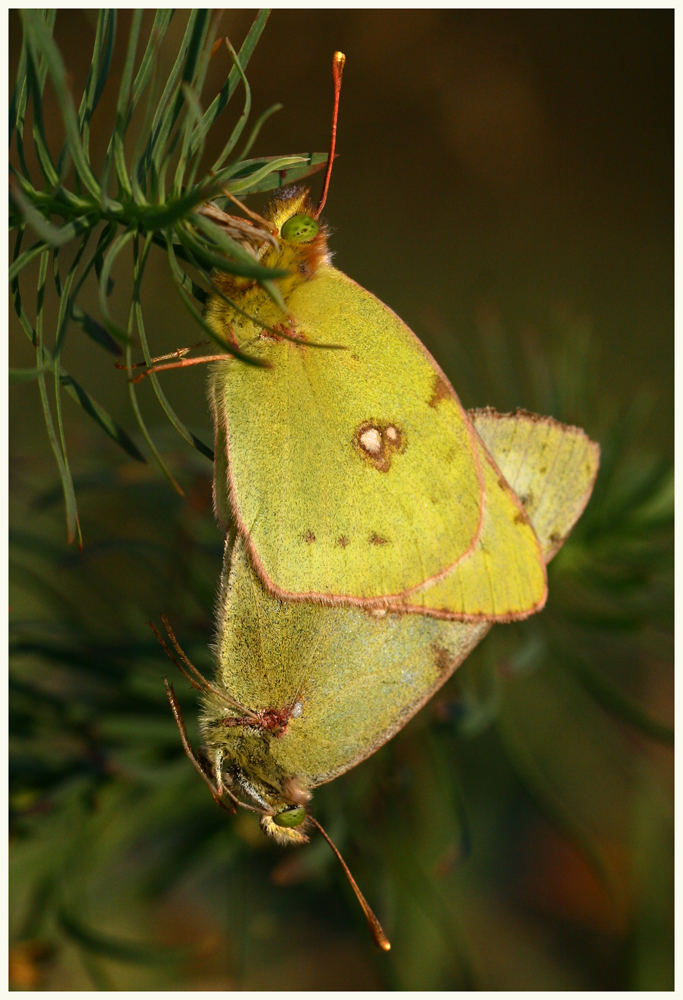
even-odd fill
[[[597,445],[577,428],[532,414],[486,410],[473,420],[523,497],[549,560],[590,497]],[[288,719],[277,736],[245,731],[240,766],[272,787],[292,776],[303,787],[331,780],[401,729],[489,628],[283,602],[262,587],[238,536],[219,601],[217,681],[240,704]],[[231,733],[223,729],[223,739]]]

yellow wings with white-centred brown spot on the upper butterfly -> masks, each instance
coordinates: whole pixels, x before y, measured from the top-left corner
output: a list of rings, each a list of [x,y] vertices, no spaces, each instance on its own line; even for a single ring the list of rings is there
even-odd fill
[[[217,511],[264,585],[455,619],[542,607],[536,534],[410,329],[326,263],[287,307],[299,342],[243,329],[269,367],[226,360],[211,376]]]

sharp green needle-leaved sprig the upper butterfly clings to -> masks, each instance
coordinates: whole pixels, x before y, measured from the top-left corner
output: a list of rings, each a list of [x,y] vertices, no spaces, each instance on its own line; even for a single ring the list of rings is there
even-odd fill
[[[20,11],[20,17],[22,48],[10,102],[10,229],[17,238],[9,277],[15,311],[36,350],[36,366],[30,374],[41,388],[46,428],[67,505],[67,534],[74,538],[79,533],[78,512],[61,422],[62,390],[66,389],[83,412],[128,454],[144,458],[97,402],[95,394],[78,386],[64,369],[60,358],[67,337],[80,329],[93,345],[118,354],[125,350],[130,361],[131,344],[144,339],[141,289],[150,250],[159,247],[165,250],[180,301],[215,340],[214,331],[202,318],[213,269],[219,267],[229,274],[253,278],[264,287],[272,287],[267,283],[278,272],[261,266],[197,209],[209,200],[224,204],[222,191],[226,187],[244,196],[291,183],[322,165],[326,154],[248,159],[260,127],[275,110],[272,108],[257,120],[242,154],[234,154],[250,118],[251,91],[246,69],[266,25],[266,11],[257,13],[239,51],[227,40],[219,40],[219,17],[214,12],[190,12],[171,70],[160,83],[159,54],[173,13],[157,11],[145,37],[143,12],[136,10],[128,37],[123,40],[125,55],[111,136],[104,163],[97,168],[91,157],[90,126],[103,93],[111,85],[117,11],[98,11],[90,68],[78,102],[71,93],[68,68],[54,39],[55,12],[27,9]],[[203,87],[209,63],[221,58],[227,62],[226,77],[204,109]],[[56,155],[51,151],[44,121],[48,85],[61,116],[62,140]],[[220,154],[207,167],[204,154],[210,131],[216,125],[224,128],[225,112],[240,92],[243,103],[238,120],[229,130]],[[137,143],[130,137],[134,117],[145,123],[140,132],[142,140]],[[139,241],[144,243],[142,253],[135,250]],[[54,323],[45,315],[44,296],[34,309],[33,293],[29,291],[34,277],[32,265],[38,261],[44,269],[48,259],[59,295],[59,315]],[[63,263],[67,259],[69,263]],[[188,265],[195,278],[188,275]],[[112,273],[115,268],[120,273],[122,266],[130,269],[135,287],[124,325],[114,318],[109,304]],[[91,317],[80,305],[82,290],[94,277],[98,282],[98,317]],[[27,304],[30,308],[26,308]],[[35,318],[31,320],[29,315]],[[230,351],[229,345],[221,342],[220,346]],[[53,404],[45,390],[45,372],[49,369],[56,373]],[[187,430],[158,385],[155,393],[162,411],[182,438],[209,455],[211,449]],[[147,454],[165,468],[133,389],[130,399]],[[167,475],[175,483],[168,470]]]

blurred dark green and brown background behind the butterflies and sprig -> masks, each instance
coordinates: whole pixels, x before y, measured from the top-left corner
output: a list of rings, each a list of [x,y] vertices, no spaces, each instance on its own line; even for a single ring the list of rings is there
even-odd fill
[[[223,16],[233,43],[253,13]],[[95,14],[57,19],[76,95]],[[12,80],[14,15],[10,40]],[[256,152],[326,148],[334,49],[348,59],[326,209],[336,265],[406,320],[466,405],[583,426],[603,448],[594,497],[547,609],[494,629],[402,733],[316,794],[392,939],[380,955],[325,845],[286,853],[250,816],[226,817],[178,745],[147,622],[167,614],[211,670],[210,463],[149,387],[184,497],[67,399],[78,551],[36,385],[14,384],[13,985],[671,989],[673,13],[275,11],[248,77],[256,114],[285,107]],[[117,47],[95,162],[120,69]],[[220,119],[215,133],[218,150]],[[161,252],[143,296],[155,352],[200,339]],[[97,314],[94,288],[83,303]],[[10,363],[29,367],[14,319]],[[111,356],[73,331],[64,363],[144,450]],[[204,379],[172,372],[164,389],[210,442]],[[176,689],[193,733],[193,692]]]

